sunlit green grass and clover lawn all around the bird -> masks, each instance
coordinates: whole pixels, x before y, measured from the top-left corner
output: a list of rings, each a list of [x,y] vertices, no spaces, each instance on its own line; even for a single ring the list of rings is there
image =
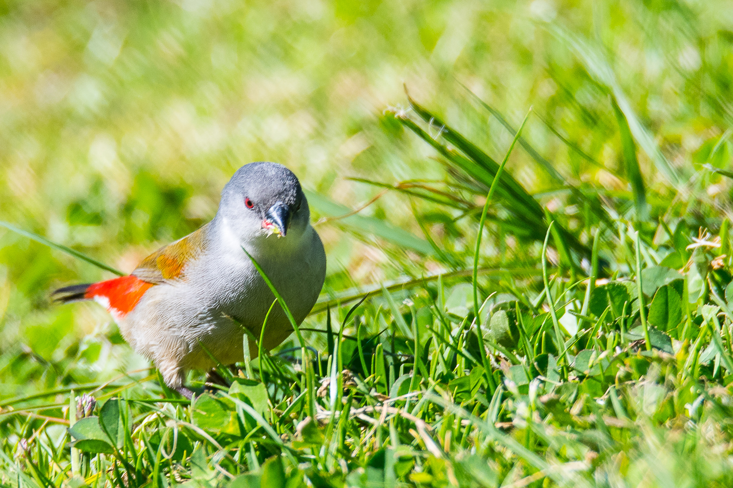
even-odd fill
[[[0,227],[3,487],[733,484],[726,2],[10,2],[0,41],[2,222],[130,271],[270,159],[329,260],[311,348],[188,402],[49,304],[108,271]]]

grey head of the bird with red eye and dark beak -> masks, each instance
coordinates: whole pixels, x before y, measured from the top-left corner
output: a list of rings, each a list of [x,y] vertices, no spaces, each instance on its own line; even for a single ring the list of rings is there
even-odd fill
[[[224,187],[217,217],[226,219],[239,239],[272,233],[292,239],[308,226],[310,211],[291,170],[274,162],[251,162]]]

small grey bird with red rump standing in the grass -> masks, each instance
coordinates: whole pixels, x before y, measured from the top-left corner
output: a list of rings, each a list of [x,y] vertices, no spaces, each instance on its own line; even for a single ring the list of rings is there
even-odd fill
[[[242,361],[243,327],[259,340],[275,299],[243,249],[298,323],[312,309],[325,279],[325,251],[309,219],[295,174],[273,162],[252,162],[224,186],[211,222],[153,252],[128,276],[60,288],[53,298],[102,304],[166,385],[190,399],[186,372]],[[276,347],[291,332],[276,304],[264,348]],[[254,358],[257,346],[254,340],[249,345]]]

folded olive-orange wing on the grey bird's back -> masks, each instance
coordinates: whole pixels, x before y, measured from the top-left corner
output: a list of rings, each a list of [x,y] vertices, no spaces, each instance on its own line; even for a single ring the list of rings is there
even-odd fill
[[[161,247],[145,258],[132,274],[155,285],[185,279],[186,266],[205,251],[206,228],[204,226],[183,239]]]

